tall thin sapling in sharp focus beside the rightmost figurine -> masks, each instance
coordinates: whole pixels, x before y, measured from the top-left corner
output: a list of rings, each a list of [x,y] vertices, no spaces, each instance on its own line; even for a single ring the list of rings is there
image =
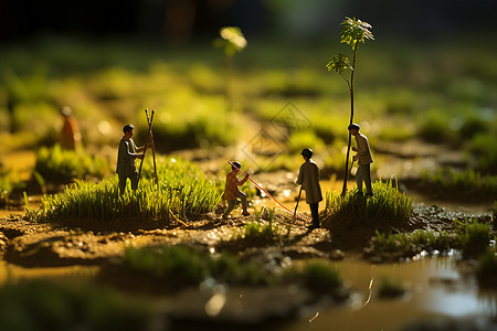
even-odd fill
[[[366,40],[374,40],[373,34],[370,29],[371,24],[367,22],[362,22],[356,18],[350,19],[346,18],[341,22],[341,43],[347,43],[352,47],[352,63],[350,63],[349,58],[343,54],[337,54],[329,58],[326,67],[328,71],[336,71],[340,74],[340,76],[347,82],[350,93],[350,124],[353,122],[353,76],[356,74],[356,61],[357,61],[357,52],[359,50],[359,44],[366,42]],[[350,70],[350,76],[346,77],[343,72],[346,70]],[[343,179],[343,188],[341,194],[345,195],[347,192],[347,179],[349,174],[349,156],[350,156],[350,140],[351,136],[349,134],[349,145],[347,148],[347,159],[346,159],[346,169],[345,169],[345,179]]]

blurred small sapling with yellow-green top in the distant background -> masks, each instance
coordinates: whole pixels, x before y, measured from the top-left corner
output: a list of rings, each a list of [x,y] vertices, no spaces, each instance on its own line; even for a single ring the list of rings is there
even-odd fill
[[[233,75],[233,56],[242,52],[246,46],[246,39],[242,30],[237,26],[225,26],[219,31],[220,38],[214,41],[216,47],[223,47],[224,51],[224,70],[226,73],[226,105],[228,109],[233,108],[232,95],[232,75]]]

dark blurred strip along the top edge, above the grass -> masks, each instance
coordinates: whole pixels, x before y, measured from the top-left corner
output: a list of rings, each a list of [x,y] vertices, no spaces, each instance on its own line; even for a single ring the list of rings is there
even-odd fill
[[[59,34],[105,39],[139,36],[192,42],[213,38],[225,25],[240,26],[252,38],[293,41],[335,38],[345,15],[371,22],[382,39],[437,39],[459,34],[491,35],[495,1],[420,0],[128,0],[3,1],[2,41]]]

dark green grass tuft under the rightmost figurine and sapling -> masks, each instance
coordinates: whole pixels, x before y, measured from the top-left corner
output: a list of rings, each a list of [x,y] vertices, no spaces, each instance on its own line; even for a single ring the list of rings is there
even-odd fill
[[[347,192],[327,192],[325,214],[331,222],[353,225],[380,225],[405,223],[412,214],[412,199],[401,193],[391,181],[377,181],[372,185],[374,196],[366,199]]]

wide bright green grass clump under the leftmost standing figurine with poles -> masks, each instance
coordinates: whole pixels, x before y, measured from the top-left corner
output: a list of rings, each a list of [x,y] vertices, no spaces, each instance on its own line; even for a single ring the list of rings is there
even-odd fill
[[[188,161],[157,159],[159,182],[155,184],[151,160],[147,159],[139,188],[118,194],[117,177],[102,183],[76,182],[64,192],[44,195],[39,210],[29,209],[35,221],[134,220],[159,222],[188,220],[213,211],[221,189]]]

